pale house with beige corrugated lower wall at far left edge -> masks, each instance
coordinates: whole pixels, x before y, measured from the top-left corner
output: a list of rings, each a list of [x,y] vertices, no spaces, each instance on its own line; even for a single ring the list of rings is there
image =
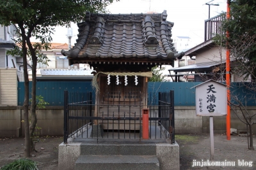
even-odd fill
[[[19,71],[22,57],[7,54],[15,48],[16,30],[12,24],[0,25],[0,106],[17,106],[17,81],[24,79],[22,70]]]

